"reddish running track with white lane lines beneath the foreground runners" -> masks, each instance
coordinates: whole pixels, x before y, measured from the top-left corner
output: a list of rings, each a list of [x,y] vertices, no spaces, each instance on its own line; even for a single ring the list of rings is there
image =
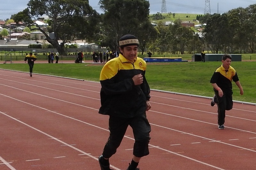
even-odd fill
[[[151,91],[150,154],[140,170],[256,169],[256,107],[234,103],[226,129],[210,98]],[[98,114],[100,83],[0,70],[1,170],[100,170],[108,116]],[[128,128],[114,170],[132,159]]]

